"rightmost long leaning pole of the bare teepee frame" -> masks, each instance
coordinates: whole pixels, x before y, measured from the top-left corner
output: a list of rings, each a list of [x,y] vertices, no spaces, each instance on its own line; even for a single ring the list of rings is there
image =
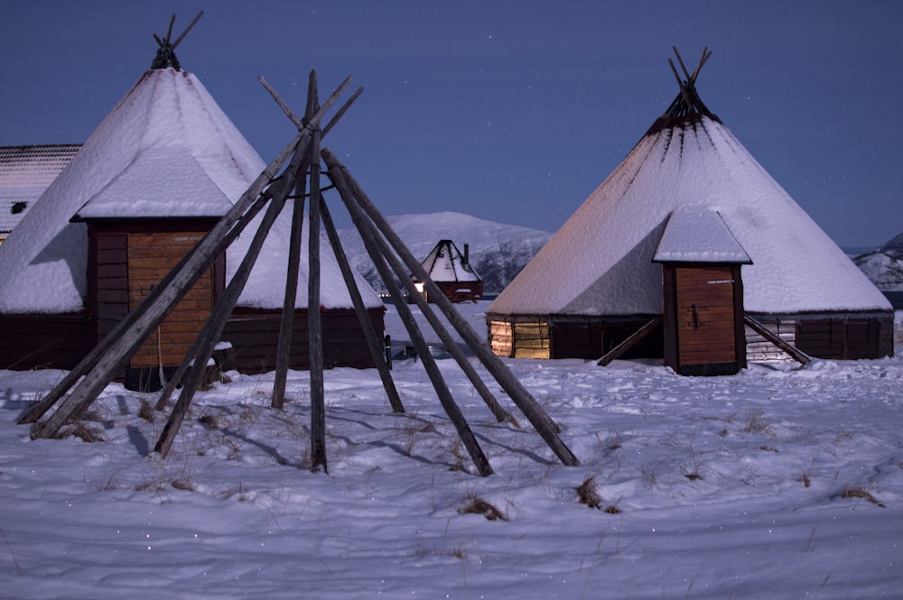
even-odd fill
[[[436,300],[436,305],[442,310],[445,318],[452,323],[452,326],[458,331],[464,342],[470,346],[489,373],[495,377],[499,385],[502,386],[502,389],[505,390],[511,397],[511,400],[517,404],[517,408],[524,412],[527,420],[533,424],[536,431],[545,440],[545,443],[549,448],[552,449],[555,456],[557,456],[564,465],[580,465],[580,461],[577,457],[573,455],[573,452],[571,452],[571,450],[564,445],[561,438],[558,437],[558,428],[554,424],[554,421],[549,418],[539,403],[526,391],[524,386],[517,381],[517,378],[511,374],[507,369],[507,366],[501,362],[498,356],[492,353],[489,346],[487,346],[485,341],[470,327],[470,324],[464,318],[461,318],[461,315],[459,315],[457,310],[452,306],[451,300],[448,300],[444,294],[442,294],[442,291],[439,290],[439,287],[430,279],[429,275],[424,271],[423,265],[414,258],[414,255],[410,253],[405,244],[401,241],[401,238],[399,238],[392,230],[392,227],[388,225],[385,217],[382,217],[364,190],[361,189],[357,181],[351,177],[348,169],[342,165],[338,157],[328,149],[324,148],[322,154],[327,165],[330,167],[330,172],[333,165],[335,165],[335,168],[349,184],[353,197],[367,213],[369,219],[377,226],[379,232],[386,236],[386,240],[388,240],[392,247],[395,248],[396,253],[405,262],[405,265],[410,272],[414,273],[414,276],[417,277],[417,279],[424,282],[428,293],[433,295]]]

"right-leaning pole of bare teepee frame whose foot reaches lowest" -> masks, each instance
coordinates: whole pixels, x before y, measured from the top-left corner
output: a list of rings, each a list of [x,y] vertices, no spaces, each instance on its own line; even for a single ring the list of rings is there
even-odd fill
[[[324,150],[324,152],[326,151]],[[466,448],[470,454],[470,458],[473,461],[474,466],[477,467],[479,475],[491,475],[492,467],[489,466],[489,460],[483,454],[482,449],[479,448],[477,438],[473,435],[470,426],[464,419],[463,414],[461,414],[461,409],[459,409],[458,405],[454,402],[452,392],[449,391],[448,386],[442,378],[439,366],[436,365],[433,355],[430,354],[429,346],[426,345],[423,334],[417,327],[414,315],[411,314],[411,309],[407,307],[405,298],[395,282],[395,277],[386,265],[385,257],[380,251],[380,246],[377,242],[378,234],[375,227],[364,215],[358,202],[351,195],[347,178],[345,178],[341,171],[337,170],[334,163],[330,164],[330,179],[335,184],[336,189],[339,190],[342,201],[349,209],[351,219],[358,228],[358,233],[364,242],[364,246],[367,248],[367,252],[373,261],[373,264],[377,268],[377,272],[379,272],[380,277],[386,284],[386,289],[392,295],[392,300],[395,302],[396,309],[398,310],[398,316],[405,325],[405,329],[407,329],[408,335],[411,337],[411,342],[414,344],[417,354],[421,357],[421,363],[424,365],[424,370],[429,376],[430,381],[433,383],[433,389],[439,396],[439,402],[442,404],[445,414],[447,414],[452,421],[452,424],[458,432],[458,437],[461,438],[464,448]]]

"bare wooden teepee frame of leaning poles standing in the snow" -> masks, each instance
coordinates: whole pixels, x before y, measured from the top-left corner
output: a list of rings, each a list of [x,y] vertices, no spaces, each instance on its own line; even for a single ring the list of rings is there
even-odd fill
[[[107,387],[107,384],[113,381],[116,373],[119,372],[123,365],[126,365],[126,362],[135,351],[144,344],[145,339],[172,311],[179,300],[182,299],[182,296],[191,289],[191,286],[200,278],[200,275],[206,272],[210,264],[225,251],[251,219],[266,208],[261,224],[244,260],[238,266],[237,272],[228,283],[226,291],[210,313],[200,334],[185,355],[176,373],[173,374],[169,383],[163,389],[156,404],[157,410],[163,411],[168,405],[176,385],[182,383],[182,391],[179,398],[175,402],[169,420],[163,427],[160,438],[154,447],[155,452],[158,452],[162,457],[166,457],[170,448],[172,448],[172,441],[176,432],[191,406],[191,400],[195,392],[200,388],[209,357],[212,355],[214,346],[219,341],[229,315],[245,287],[247,277],[256,262],[266,235],[268,235],[270,227],[284,208],[286,201],[292,199],[291,247],[272,396],[272,405],[275,408],[282,408],[298,284],[298,264],[301,253],[305,196],[310,198],[310,244],[308,247],[310,272],[307,291],[309,307],[307,315],[311,373],[312,470],[322,469],[324,472],[328,470],[325,443],[326,424],[323,398],[321,313],[320,310],[316,309],[320,306],[321,225],[325,229],[330,245],[339,262],[340,270],[358,315],[358,320],[367,338],[368,349],[375,365],[377,365],[383,387],[386,390],[388,401],[393,411],[404,412],[405,409],[402,406],[395,383],[391,377],[389,365],[387,365],[383,354],[382,342],[377,336],[368,317],[367,309],[363,300],[361,300],[357,283],[354,280],[348,259],[340,245],[339,235],[333,225],[329,208],[327,208],[326,203],[321,198],[322,160],[326,164],[327,177],[330,179],[331,185],[339,191],[342,202],[348,208],[352,221],[364,240],[368,254],[375,263],[377,271],[386,284],[386,288],[395,300],[396,309],[398,309],[418,355],[421,356],[424,368],[442,403],[442,408],[452,420],[461,442],[467,448],[479,475],[490,475],[492,468],[479,448],[479,443],[470,430],[470,426],[464,420],[461,410],[454,402],[452,393],[444,382],[439,367],[436,365],[433,355],[430,354],[424,336],[414,321],[414,316],[408,308],[396,281],[404,282],[410,296],[417,301],[419,308],[423,311],[431,327],[442,339],[442,343],[457,360],[458,364],[461,365],[462,371],[473,383],[493,415],[499,421],[513,421],[513,418],[489,392],[486,384],[480,379],[474,367],[470,365],[470,362],[452,339],[452,335],[442,324],[441,319],[433,312],[432,307],[426,303],[423,296],[416,292],[414,282],[410,277],[411,273],[414,274],[418,281],[424,283],[427,292],[436,300],[434,306],[437,306],[442,311],[442,314],[452,324],[452,327],[455,328],[464,342],[470,346],[470,349],[479,358],[479,361],[489,374],[492,374],[501,388],[507,392],[511,400],[525,414],[527,420],[535,427],[554,454],[564,465],[575,466],[579,464],[571,450],[558,437],[558,428],[554,421],[517,381],[517,378],[511,374],[498,356],[492,353],[486,342],[470,327],[470,324],[461,318],[461,315],[454,309],[451,300],[445,298],[439,291],[438,286],[424,271],[423,265],[405,247],[398,235],[388,225],[386,219],[370,201],[367,194],[360,188],[358,182],[350,175],[348,169],[333,152],[330,152],[327,148],[321,148],[321,139],[330,132],[332,126],[338,122],[362,91],[362,89],[358,88],[330,119],[330,122],[321,128],[321,120],[330,107],[335,104],[345,88],[348,87],[349,81],[350,77],[345,79],[340,87],[321,106],[318,99],[316,72],[312,71],[304,117],[298,118],[275,93],[275,90],[266,83],[265,79],[261,78],[261,83],[273,95],[284,113],[288,115],[297,127],[298,134],[294,137],[292,143],[289,143],[282,152],[278,153],[273,162],[267,165],[265,170],[248,187],[235,205],[219,220],[219,223],[172,269],[172,272],[164,277],[163,281],[126,318],[118,323],[116,328],[104,337],[98,346],[88,353],[81,363],[67,374],[50,393],[23,415],[19,423],[34,424],[33,438],[51,438],[57,435],[67,422],[77,419],[82,412],[86,411],[88,406],[98,398],[99,393]],[[310,193],[305,195],[305,183],[308,180],[310,181]],[[310,309],[310,307],[314,307],[314,309]],[[51,416],[47,420],[41,421],[43,415],[61,400],[59,407],[53,411]]]

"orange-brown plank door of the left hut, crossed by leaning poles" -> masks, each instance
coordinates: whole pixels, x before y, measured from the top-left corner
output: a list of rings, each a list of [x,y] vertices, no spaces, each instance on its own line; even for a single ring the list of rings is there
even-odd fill
[[[198,244],[204,232],[128,234],[128,309],[138,304]],[[213,307],[215,267],[200,277],[153,334],[132,355],[126,383],[135,389],[159,389],[198,337]]]

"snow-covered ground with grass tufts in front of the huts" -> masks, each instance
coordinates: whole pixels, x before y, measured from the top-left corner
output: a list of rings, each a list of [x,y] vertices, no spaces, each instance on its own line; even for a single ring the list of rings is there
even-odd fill
[[[487,304],[461,306],[479,331]],[[284,411],[271,376],[229,374],[161,460],[154,395],[112,384],[83,428],[102,441],[33,441],[14,420],[61,373],[0,371],[0,597],[903,597],[901,359],[716,378],[507,361],[577,467],[494,381],[519,428],[440,364],[495,475],[461,470],[413,360],[393,371],[405,415],[375,371],[326,373],[329,475],[309,470],[304,372]]]

